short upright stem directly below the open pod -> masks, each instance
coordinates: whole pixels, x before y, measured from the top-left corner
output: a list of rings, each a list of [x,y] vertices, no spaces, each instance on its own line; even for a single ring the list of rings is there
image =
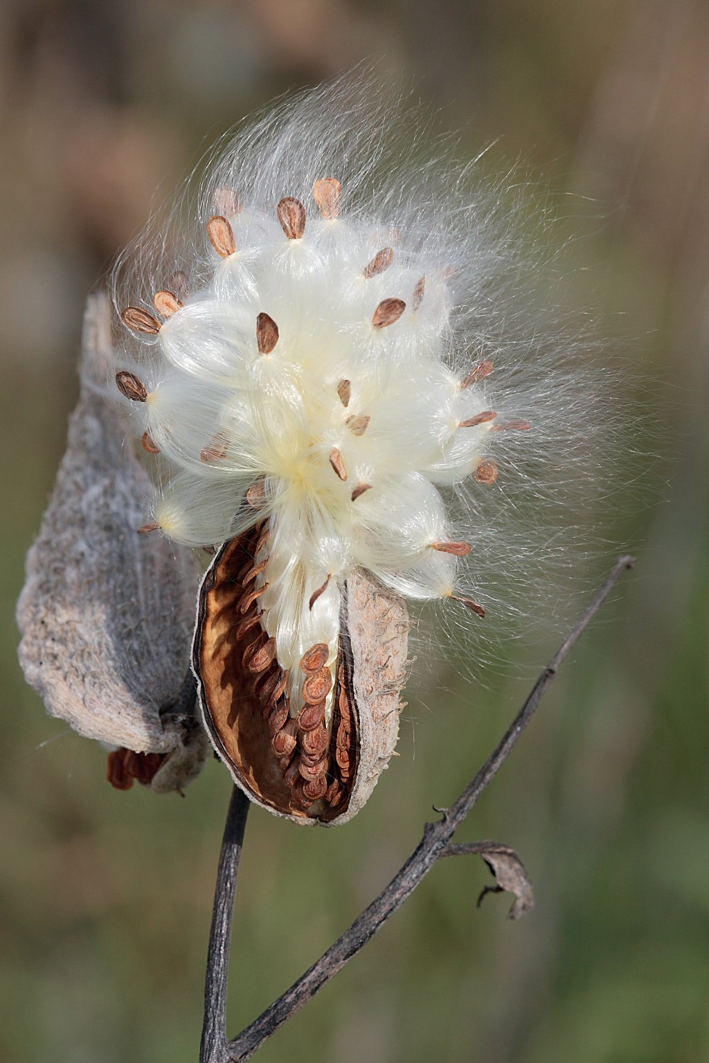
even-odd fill
[[[226,988],[229,983],[229,954],[234,921],[234,895],[239,857],[243,845],[243,831],[249,813],[249,798],[234,787],[229,803],[226,824],[221,841],[217,870],[207,973],[204,983],[204,1024],[200,1063],[224,1063],[229,1060],[226,1044]]]

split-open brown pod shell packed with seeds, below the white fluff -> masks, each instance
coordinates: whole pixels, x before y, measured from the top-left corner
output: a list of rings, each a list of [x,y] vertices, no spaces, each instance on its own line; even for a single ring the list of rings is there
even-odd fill
[[[322,678],[315,670],[318,646],[303,656],[304,671],[315,665],[303,685],[308,701],[291,706],[284,693],[285,673],[261,625],[253,575],[265,545],[268,525],[260,524],[224,543],[204,575],[192,648],[204,724],[235,782],[256,804],[298,823],[344,823],[369,797],[396,744],[406,605],[361,569],[342,586],[325,727],[324,702],[309,693]]]

